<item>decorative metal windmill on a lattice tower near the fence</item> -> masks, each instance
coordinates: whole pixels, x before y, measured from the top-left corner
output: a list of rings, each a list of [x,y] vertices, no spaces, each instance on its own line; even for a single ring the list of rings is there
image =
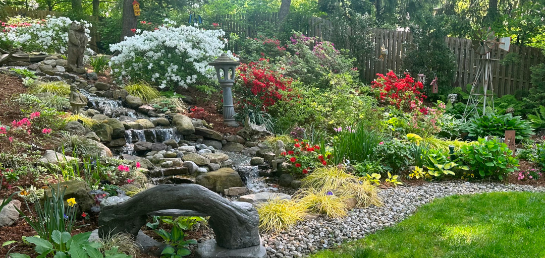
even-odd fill
[[[500,38],[496,41],[494,32],[490,27],[487,29],[481,28],[474,34],[474,40],[471,40],[473,50],[477,54],[477,72],[471,92],[469,93],[468,103],[465,106],[463,119],[467,119],[471,114],[479,115],[478,106],[482,103],[482,115],[485,115],[486,106],[489,105],[494,109],[494,87],[492,85],[492,59],[490,52],[494,47],[498,46],[501,50],[509,52],[511,38]]]

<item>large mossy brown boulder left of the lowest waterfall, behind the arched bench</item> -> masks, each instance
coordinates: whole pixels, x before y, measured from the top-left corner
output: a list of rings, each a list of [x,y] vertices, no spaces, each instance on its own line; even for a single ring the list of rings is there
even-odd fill
[[[223,189],[229,187],[243,187],[242,179],[237,171],[231,168],[220,168],[198,175],[195,179],[197,185],[204,186],[216,193],[223,193]]]

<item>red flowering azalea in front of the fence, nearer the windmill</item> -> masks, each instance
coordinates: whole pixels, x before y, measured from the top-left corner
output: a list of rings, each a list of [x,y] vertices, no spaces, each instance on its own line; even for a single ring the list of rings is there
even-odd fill
[[[426,114],[427,108],[423,106],[424,99],[427,96],[421,92],[424,85],[421,82],[415,82],[413,77],[405,73],[404,78],[398,78],[393,71],[386,73],[386,76],[377,73],[378,78],[371,82],[371,87],[378,89],[379,100],[389,102],[403,110],[420,110]]]

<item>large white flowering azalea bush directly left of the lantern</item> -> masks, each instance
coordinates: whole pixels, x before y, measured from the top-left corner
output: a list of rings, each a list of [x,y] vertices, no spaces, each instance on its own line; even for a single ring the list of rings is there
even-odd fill
[[[135,35],[110,45],[110,66],[116,83],[143,79],[159,88],[187,88],[196,81],[215,78],[209,62],[223,53],[223,30],[163,25],[155,30],[136,30]]]

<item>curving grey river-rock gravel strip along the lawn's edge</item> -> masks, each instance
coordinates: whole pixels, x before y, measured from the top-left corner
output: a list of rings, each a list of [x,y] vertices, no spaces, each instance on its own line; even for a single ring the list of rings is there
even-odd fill
[[[281,234],[262,234],[268,257],[304,257],[320,249],[363,238],[374,231],[400,222],[417,207],[455,194],[485,192],[545,192],[545,187],[504,185],[500,183],[434,182],[422,186],[381,189],[384,206],[356,208],[342,219],[319,217],[299,223]]]

